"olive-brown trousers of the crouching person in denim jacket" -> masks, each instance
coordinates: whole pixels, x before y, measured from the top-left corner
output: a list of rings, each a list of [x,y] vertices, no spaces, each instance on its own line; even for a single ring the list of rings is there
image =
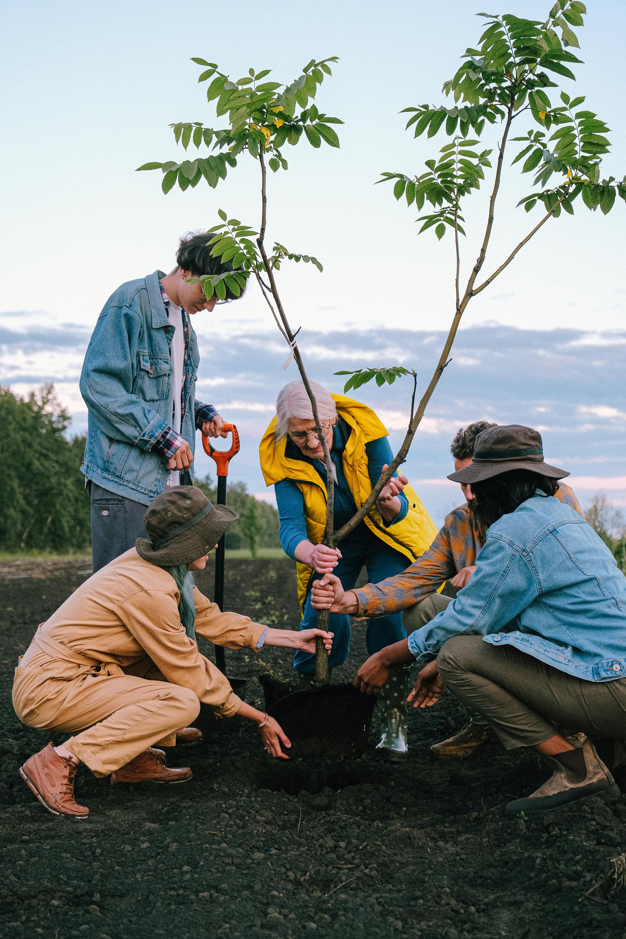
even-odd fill
[[[626,678],[587,682],[481,636],[448,639],[437,666],[450,690],[482,715],[508,750],[542,744],[563,731],[626,737]]]

